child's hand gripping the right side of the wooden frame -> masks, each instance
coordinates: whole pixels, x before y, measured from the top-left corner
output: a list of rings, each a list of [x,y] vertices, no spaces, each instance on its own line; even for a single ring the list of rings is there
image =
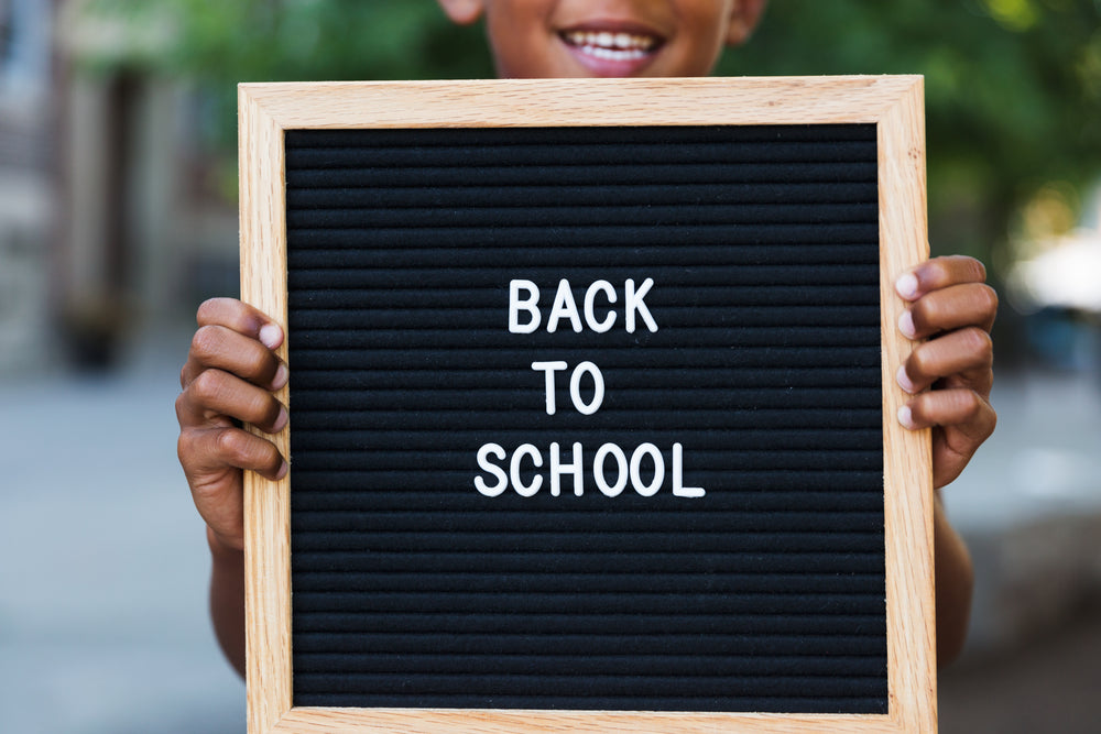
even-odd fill
[[[990,406],[998,294],[985,278],[979,261],[950,256],[928,260],[895,284],[911,302],[898,328],[909,339],[928,338],[898,369],[898,384],[914,395],[898,420],[911,429],[933,426],[935,487],[959,476],[998,419]]]

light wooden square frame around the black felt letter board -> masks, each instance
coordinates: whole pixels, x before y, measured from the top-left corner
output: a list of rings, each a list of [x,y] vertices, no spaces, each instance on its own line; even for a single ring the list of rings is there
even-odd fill
[[[894,327],[904,304],[893,283],[928,256],[920,77],[255,84],[241,85],[239,101],[242,298],[284,324],[285,130],[875,124],[887,544],[886,715],[295,708],[291,482],[250,473],[244,485],[249,732],[936,730],[929,434],[912,434],[898,425],[895,415],[906,395],[894,380],[911,344]],[[285,388],[280,398],[288,399]],[[276,443],[288,450],[287,430]]]

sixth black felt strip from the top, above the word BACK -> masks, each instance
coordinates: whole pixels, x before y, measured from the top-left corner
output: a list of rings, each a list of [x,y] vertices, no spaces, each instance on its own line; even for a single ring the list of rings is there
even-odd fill
[[[872,244],[879,242],[879,227],[870,222],[826,223],[623,223],[539,227],[534,224],[494,224],[453,227],[372,227],[370,229],[288,228],[287,242],[297,248],[435,248],[524,247],[555,244],[565,247],[684,244]]]

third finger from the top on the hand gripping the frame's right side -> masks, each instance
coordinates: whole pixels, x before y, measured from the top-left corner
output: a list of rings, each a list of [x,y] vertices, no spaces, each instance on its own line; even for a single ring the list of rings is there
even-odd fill
[[[896,379],[911,394],[945,377],[959,377],[963,384],[989,393],[993,361],[990,335],[969,327],[919,344],[898,368]]]

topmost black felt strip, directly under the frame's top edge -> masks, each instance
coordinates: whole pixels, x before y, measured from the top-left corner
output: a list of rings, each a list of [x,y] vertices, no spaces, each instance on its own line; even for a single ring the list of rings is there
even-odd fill
[[[672,141],[715,143],[776,141],[874,142],[874,124],[776,124],[776,125],[640,125],[587,128],[385,128],[375,130],[287,130],[286,146],[324,149],[385,145],[423,147],[436,145],[493,145],[508,147],[533,141],[560,145],[579,140],[592,144],[625,141],[661,145]]]

